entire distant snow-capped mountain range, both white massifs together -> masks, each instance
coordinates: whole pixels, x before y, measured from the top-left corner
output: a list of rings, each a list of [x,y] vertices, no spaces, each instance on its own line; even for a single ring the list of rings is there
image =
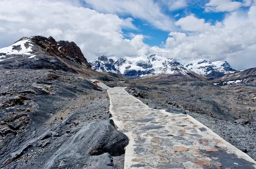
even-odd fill
[[[199,74],[209,79],[216,79],[225,74],[236,72],[227,61],[210,62],[207,60],[196,60],[182,65],[171,57],[163,57],[160,54],[150,56],[141,55],[137,57],[106,57],[101,55],[90,63],[92,69],[98,72],[114,72],[123,74],[128,78],[142,78],[151,75],[189,75],[191,77]]]

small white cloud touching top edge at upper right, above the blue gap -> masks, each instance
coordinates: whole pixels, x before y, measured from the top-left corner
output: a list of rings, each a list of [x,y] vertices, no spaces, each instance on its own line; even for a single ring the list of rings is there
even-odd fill
[[[241,6],[250,6],[252,0],[243,0],[243,2],[237,2],[233,0],[210,0],[209,3],[206,3],[205,11],[206,12],[225,12],[225,11],[235,11]]]

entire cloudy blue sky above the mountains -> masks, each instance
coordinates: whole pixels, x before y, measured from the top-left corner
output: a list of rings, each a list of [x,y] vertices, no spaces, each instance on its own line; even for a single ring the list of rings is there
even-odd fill
[[[256,67],[256,0],[0,0],[0,6],[0,48],[42,35],[75,42],[87,60],[158,53],[182,64]]]

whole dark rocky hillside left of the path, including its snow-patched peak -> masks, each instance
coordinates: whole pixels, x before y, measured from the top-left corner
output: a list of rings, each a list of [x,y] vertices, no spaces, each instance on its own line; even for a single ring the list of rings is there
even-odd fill
[[[52,37],[0,50],[1,168],[122,168],[128,138],[109,119],[106,91],[88,79],[123,77],[93,71],[75,43]]]

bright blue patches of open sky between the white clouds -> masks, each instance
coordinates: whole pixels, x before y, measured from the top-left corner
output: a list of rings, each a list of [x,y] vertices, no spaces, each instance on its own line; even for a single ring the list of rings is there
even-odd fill
[[[243,2],[243,0],[234,0],[237,2]],[[155,2],[157,2],[155,0]],[[205,1],[205,2],[209,2]],[[169,16],[172,17],[174,21],[179,20],[182,17],[186,17],[187,15],[194,14],[198,18],[205,19],[206,22],[209,22],[211,24],[215,24],[218,21],[222,21],[225,18],[225,15],[227,15],[229,12],[227,11],[221,11],[221,12],[205,12],[205,6],[203,6],[202,3],[200,3],[200,6],[197,6],[197,4],[191,4],[189,6],[183,7],[181,9],[169,11],[166,10],[166,6],[163,7],[163,12]],[[241,7],[240,10],[248,11],[250,7]],[[131,15],[125,15],[125,17],[132,17]],[[170,33],[168,30],[161,30],[157,29],[154,26],[152,26],[150,23],[146,22],[145,20],[134,18],[133,22],[134,26],[137,27],[137,30],[132,29],[123,29],[125,38],[133,38],[129,36],[130,33],[133,34],[143,34],[145,36],[145,39],[143,40],[146,44],[149,46],[158,46],[162,47],[163,43],[166,41],[168,34]]]

